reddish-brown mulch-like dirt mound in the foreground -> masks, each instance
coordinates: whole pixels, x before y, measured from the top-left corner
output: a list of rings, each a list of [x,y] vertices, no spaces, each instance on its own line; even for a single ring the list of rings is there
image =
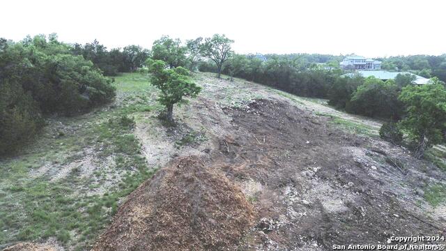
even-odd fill
[[[226,176],[180,158],[129,195],[93,250],[228,250],[253,218]]]

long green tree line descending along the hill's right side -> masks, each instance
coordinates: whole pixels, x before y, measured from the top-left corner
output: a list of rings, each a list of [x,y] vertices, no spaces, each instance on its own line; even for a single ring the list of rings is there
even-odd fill
[[[298,56],[272,55],[267,61],[256,55],[234,54],[223,73],[272,86],[298,96],[327,98],[328,103],[346,112],[387,121],[380,137],[402,144],[406,137],[416,158],[434,144],[446,142],[445,83],[433,77],[417,86],[412,74],[399,74],[383,81],[375,77],[344,75],[336,61],[310,63]],[[200,70],[216,72],[206,61]]]

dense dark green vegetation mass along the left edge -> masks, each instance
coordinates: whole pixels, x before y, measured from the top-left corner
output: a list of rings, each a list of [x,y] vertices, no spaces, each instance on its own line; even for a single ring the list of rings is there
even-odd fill
[[[77,114],[114,98],[109,79],[70,49],[54,35],[0,41],[0,153],[32,137],[43,114]]]

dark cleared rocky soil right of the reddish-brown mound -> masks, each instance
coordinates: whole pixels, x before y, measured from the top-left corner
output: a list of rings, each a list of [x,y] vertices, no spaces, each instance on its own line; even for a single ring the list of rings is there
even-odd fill
[[[256,100],[244,109],[224,110],[233,126],[233,139],[220,141],[230,164],[224,172],[237,183],[263,185],[256,195],[258,220],[273,225],[271,231],[253,229],[245,248],[331,250],[334,244],[376,245],[392,235],[426,236],[445,229],[444,218],[434,222],[422,215],[415,206],[420,197],[404,190],[445,175],[433,167],[420,172],[426,163],[403,149],[328,128],[324,118],[286,102]],[[358,158],[358,151],[373,158]],[[388,156],[402,160],[407,170],[386,165]]]

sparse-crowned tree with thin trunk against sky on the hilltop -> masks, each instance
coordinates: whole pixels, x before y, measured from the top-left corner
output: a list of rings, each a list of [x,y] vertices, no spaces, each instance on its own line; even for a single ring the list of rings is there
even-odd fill
[[[212,38],[206,38],[203,45],[203,56],[215,62],[217,65],[217,77],[220,78],[222,73],[222,66],[231,55],[231,44],[233,40],[226,38],[224,35],[215,34]]]

